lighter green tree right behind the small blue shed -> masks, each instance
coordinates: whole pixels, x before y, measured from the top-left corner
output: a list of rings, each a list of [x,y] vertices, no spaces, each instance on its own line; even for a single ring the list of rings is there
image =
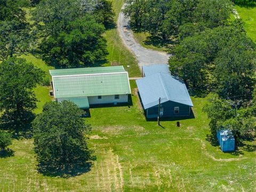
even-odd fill
[[[217,130],[229,129],[233,132],[236,141],[239,141],[256,130],[255,103],[243,106],[240,101],[224,100],[217,94],[208,95],[204,111],[211,120],[210,128],[213,135]]]

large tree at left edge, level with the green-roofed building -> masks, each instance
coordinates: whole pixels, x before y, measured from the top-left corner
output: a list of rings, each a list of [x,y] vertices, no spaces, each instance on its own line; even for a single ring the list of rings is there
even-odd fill
[[[36,108],[33,89],[42,81],[44,72],[25,59],[10,58],[0,65],[1,122],[20,128],[31,118]]]

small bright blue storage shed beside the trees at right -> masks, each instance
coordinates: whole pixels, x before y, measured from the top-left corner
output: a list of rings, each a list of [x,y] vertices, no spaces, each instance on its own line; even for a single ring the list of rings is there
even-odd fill
[[[223,152],[235,150],[235,138],[230,130],[218,131],[217,138]]]

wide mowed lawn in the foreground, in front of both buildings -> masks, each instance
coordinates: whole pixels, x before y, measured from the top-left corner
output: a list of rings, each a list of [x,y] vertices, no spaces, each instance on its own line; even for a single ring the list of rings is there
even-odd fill
[[[255,191],[256,153],[222,153],[207,141],[204,98],[193,97],[195,118],[147,122],[135,81],[132,106],[90,109],[89,172],[58,178],[37,172],[33,139],[13,140],[13,157],[0,158],[1,191]],[[248,143],[255,145],[255,141]]]

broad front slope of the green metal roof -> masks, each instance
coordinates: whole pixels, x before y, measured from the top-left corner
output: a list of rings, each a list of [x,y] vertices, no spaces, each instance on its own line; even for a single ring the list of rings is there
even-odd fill
[[[91,68],[91,71],[101,70],[103,73],[85,73],[64,76],[53,75],[52,78],[55,98],[131,94],[129,77],[125,70],[122,72],[106,73],[106,71],[113,71],[111,68],[116,69],[116,67],[106,67],[108,70],[103,70],[102,67],[100,68],[101,69]]]

